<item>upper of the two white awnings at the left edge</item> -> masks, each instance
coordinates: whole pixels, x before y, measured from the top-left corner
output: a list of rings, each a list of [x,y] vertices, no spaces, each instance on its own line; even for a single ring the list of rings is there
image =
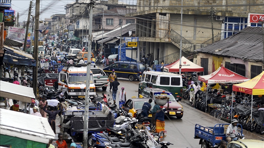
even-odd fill
[[[0,97],[31,103],[35,94],[31,87],[0,81]]]

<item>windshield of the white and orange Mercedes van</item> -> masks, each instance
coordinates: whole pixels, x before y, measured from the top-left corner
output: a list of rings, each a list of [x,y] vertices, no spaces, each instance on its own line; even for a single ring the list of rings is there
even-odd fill
[[[90,75],[90,84],[94,83],[94,78]],[[70,73],[69,84],[86,84],[86,73]]]

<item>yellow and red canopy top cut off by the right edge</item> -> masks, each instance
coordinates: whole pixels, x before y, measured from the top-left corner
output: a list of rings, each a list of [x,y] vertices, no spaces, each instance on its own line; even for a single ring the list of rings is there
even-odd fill
[[[233,91],[252,95],[264,95],[264,71],[247,82],[234,84]]]

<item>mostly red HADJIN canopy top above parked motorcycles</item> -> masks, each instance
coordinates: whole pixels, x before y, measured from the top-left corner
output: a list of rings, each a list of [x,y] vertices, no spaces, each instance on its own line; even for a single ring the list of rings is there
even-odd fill
[[[215,72],[210,75],[199,76],[198,79],[207,84],[215,83],[242,83],[250,79],[232,72],[225,67],[219,67]]]

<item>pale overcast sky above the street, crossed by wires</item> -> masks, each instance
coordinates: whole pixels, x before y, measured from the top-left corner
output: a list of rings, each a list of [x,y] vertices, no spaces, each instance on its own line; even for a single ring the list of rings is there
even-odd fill
[[[36,0],[32,0],[33,2],[33,13],[35,14],[35,2]],[[64,5],[75,2],[75,0],[40,0],[40,20],[45,18],[50,18],[53,14],[65,14]],[[127,3],[130,5],[136,5],[136,0],[119,0],[119,3]],[[27,21],[28,20],[28,10],[29,10],[30,0],[12,0],[12,9],[19,12],[19,21]]]

